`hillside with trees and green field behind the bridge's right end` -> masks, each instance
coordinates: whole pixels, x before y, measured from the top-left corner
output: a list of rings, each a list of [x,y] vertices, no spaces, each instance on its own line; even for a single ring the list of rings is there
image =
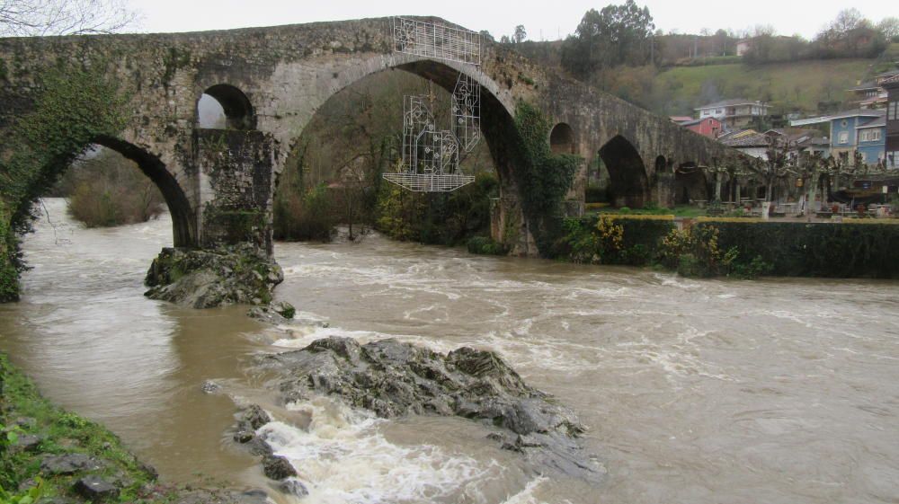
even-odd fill
[[[748,41],[742,57],[737,43]],[[552,42],[512,42],[523,55],[661,115],[692,115],[725,98],[769,102],[772,115],[825,113],[845,105],[845,91],[899,61],[899,18],[879,22],[858,10],[836,15],[813,40],[752,31],[655,29],[633,0],[583,15],[574,34]]]

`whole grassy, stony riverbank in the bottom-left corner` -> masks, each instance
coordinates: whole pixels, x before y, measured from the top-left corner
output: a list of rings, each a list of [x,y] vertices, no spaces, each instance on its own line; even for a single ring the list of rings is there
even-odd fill
[[[157,481],[102,425],[58,408],[0,354],[0,501],[262,504],[263,491],[191,489]]]

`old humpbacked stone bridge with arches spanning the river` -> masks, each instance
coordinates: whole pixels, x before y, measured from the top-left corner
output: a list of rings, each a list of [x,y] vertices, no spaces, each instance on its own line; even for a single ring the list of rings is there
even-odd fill
[[[423,21],[448,24],[435,18]],[[481,129],[500,178],[494,238],[536,254],[515,173],[518,102],[555,125],[556,153],[585,162],[568,211],[583,211],[587,166],[601,157],[620,205],[671,206],[674,168],[743,163],[737,151],[484,40],[472,66],[393,50],[392,18],[230,31],[0,39],[0,134],[33,106],[43,68],[58,61],[111,62],[129,94],[129,124],[94,138],[134,160],[160,188],[176,246],[254,242],[271,252],[271,201],[278,175],[316,111],[368,75],[403,70],[451,93],[459,73],[481,86]],[[198,102],[222,105],[227,128],[198,126]],[[400,125],[397,125],[400,128]],[[503,233],[510,226],[521,233]],[[509,236],[515,236],[510,239]]]

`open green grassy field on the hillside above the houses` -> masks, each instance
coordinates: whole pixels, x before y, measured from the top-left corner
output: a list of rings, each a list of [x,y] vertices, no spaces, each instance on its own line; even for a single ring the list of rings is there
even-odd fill
[[[895,45],[895,44],[894,44]],[[897,49],[899,50],[899,49]],[[769,101],[777,111],[817,111],[818,102],[842,102],[845,90],[866,78],[872,59],[828,59],[763,66],[743,64],[677,66],[655,77],[667,95],[658,105],[663,114],[692,114],[703,102],[702,91],[713,88],[724,98]]]

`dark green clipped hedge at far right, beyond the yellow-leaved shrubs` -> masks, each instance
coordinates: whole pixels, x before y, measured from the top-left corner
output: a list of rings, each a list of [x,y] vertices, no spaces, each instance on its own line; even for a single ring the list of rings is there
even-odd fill
[[[704,222],[718,229],[722,250],[761,257],[788,277],[899,279],[899,225]]]

